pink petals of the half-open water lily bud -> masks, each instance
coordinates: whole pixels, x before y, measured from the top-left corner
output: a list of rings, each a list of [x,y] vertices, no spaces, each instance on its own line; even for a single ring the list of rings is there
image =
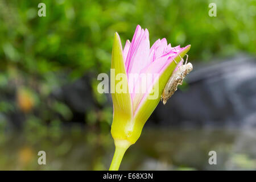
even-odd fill
[[[136,113],[139,104],[146,98],[150,88],[155,83],[155,79],[152,78],[147,82],[145,93],[135,93],[138,87],[141,87],[142,74],[159,74],[161,75],[164,70],[174,61],[174,57],[180,54],[184,49],[189,46],[180,48],[180,46],[171,47],[171,44],[167,44],[166,38],[158,39],[150,48],[150,40],[147,28],[143,30],[141,26],[137,26],[133,40],[131,43],[126,41],[125,48],[123,48],[123,60],[125,61],[125,69],[128,78],[129,92],[131,94],[131,101],[133,102],[133,111]],[[182,63],[180,62],[179,65]],[[177,67],[179,67],[177,65]],[[176,69],[177,69],[176,67]],[[139,74],[137,80],[132,80],[133,74]]]

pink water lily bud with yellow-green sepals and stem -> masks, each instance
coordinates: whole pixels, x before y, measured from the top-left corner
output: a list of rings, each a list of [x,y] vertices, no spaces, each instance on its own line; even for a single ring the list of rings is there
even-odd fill
[[[122,88],[127,89],[126,92],[112,92],[114,113],[111,133],[115,153],[110,170],[118,170],[125,151],[138,140],[144,123],[160,101],[164,86],[172,72],[182,64],[181,57],[190,47],[171,47],[163,38],[156,40],[150,48],[147,28],[143,30],[138,25],[133,39],[131,42],[127,40],[122,49],[119,35],[115,33],[111,65],[114,74],[110,75],[110,85],[112,90],[116,89],[116,80],[120,80],[116,76],[121,73],[124,75]],[[134,78],[134,75],[138,77]],[[144,84],[142,75],[157,76],[147,79]],[[156,93],[156,97],[152,98],[152,93]]]

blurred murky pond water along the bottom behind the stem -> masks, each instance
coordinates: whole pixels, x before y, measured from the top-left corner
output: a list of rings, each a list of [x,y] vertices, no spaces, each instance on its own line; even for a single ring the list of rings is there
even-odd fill
[[[127,150],[123,170],[230,170],[256,169],[255,129],[151,129]],[[21,136],[21,137],[18,137]],[[104,170],[109,168],[114,145],[109,134],[65,131],[31,142],[25,135],[7,135],[0,145],[0,169]],[[47,154],[39,165],[38,151]],[[217,165],[209,165],[209,151]]]

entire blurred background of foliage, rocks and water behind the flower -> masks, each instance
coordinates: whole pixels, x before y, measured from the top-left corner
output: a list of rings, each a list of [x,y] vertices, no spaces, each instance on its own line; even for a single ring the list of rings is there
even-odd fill
[[[46,3],[46,17],[38,4]],[[217,5],[210,17],[209,3]],[[0,0],[0,169],[108,169],[114,32],[191,44],[194,70],[120,169],[256,169],[256,1]],[[38,151],[47,164],[38,165]],[[217,152],[217,165],[208,152]]]

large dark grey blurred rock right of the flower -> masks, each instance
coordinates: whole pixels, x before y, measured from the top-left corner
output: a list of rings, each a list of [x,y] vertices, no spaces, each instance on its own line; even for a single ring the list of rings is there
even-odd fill
[[[213,63],[195,64],[186,79],[188,88],[179,88],[166,105],[160,103],[149,122],[185,127],[240,126],[247,115],[256,113],[255,57],[241,55]]]

